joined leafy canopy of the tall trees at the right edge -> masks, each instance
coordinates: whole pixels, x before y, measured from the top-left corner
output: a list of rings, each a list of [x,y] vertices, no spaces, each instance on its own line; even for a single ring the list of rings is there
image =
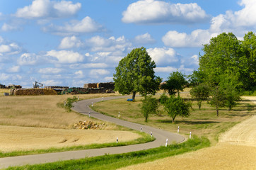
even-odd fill
[[[244,40],[233,33],[221,33],[204,45],[204,55],[199,57],[199,71],[205,74],[204,81],[219,86],[229,77],[239,89],[253,90],[256,86],[256,37],[249,32]]]

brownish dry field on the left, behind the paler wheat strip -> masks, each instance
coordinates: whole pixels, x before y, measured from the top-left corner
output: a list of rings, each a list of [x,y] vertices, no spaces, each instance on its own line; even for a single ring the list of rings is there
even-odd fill
[[[83,94],[79,99],[101,98],[115,94]],[[93,120],[85,115],[67,112],[66,98],[71,95],[55,96],[0,96],[0,125],[35,128],[71,129],[80,120]],[[77,96],[76,96],[77,97]],[[100,120],[93,120],[102,123]],[[118,130],[120,127],[105,123],[105,130]]]

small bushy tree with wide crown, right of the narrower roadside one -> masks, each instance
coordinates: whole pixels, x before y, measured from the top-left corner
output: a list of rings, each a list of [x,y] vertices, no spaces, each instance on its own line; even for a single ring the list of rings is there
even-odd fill
[[[170,118],[173,119],[173,123],[177,115],[182,117],[190,116],[190,104],[185,103],[185,101],[180,98],[180,96],[177,98],[175,98],[175,96],[170,96],[170,98],[168,98],[163,106],[168,115],[170,115]]]

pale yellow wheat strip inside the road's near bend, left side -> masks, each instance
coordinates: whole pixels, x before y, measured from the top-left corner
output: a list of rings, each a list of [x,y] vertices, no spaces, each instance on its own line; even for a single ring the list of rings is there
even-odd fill
[[[0,126],[0,152],[50,147],[71,147],[94,143],[120,142],[139,138],[134,132],[120,130],[64,130],[50,128],[28,128]]]

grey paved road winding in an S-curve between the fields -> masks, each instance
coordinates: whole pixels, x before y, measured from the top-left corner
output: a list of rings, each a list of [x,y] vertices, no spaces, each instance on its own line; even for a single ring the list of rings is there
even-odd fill
[[[104,101],[112,100],[116,98],[127,98],[127,96],[114,96],[114,97],[107,97],[104,98]],[[19,156],[19,157],[6,157],[0,159],[0,168],[7,168],[8,166],[21,166],[25,164],[44,164],[47,162],[57,162],[61,160],[70,160],[70,159],[81,159],[84,157],[96,157],[104,154],[121,154],[127,152],[134,152],[144,149],[151,149],[154,147],[160,147],[165,145],[166,139],[168,139],[168,144],[175,142],[183,142],[185,137],[181,135],[168,132],[165,130],[160,130],[157,128],[151,128],[146,125],[140,125],[138,123],[130,123],[124,120],[120,120],[117,118],[112,118],[107,115],[103,115],[93,111],[89,106],[91,103],[96,103],[101,101],[102,98],[94,98],[84,101],[78,101],[74,103],[74,111],[88,115],[89,112],[91,117],[98,118],[100,120],[109,121],[112,123],[116,123],[117,125],[122,125],[127,128],[131,128],[134,130],[140,130],[142,128],[143,132],[146,133],[153,133],[153,137],[156,137],[156,140],[153,142],[148,142],[145,144],[138,144],[138,145],[129,145],[123,147],[107,147],[101,149],[86,149],[86,150],[79,150],[79,151],[69,151],[69,152],[57,152],[57,153],[50,153],[50,154],[34,154],[34,155],[26,155],[26,156]]]

